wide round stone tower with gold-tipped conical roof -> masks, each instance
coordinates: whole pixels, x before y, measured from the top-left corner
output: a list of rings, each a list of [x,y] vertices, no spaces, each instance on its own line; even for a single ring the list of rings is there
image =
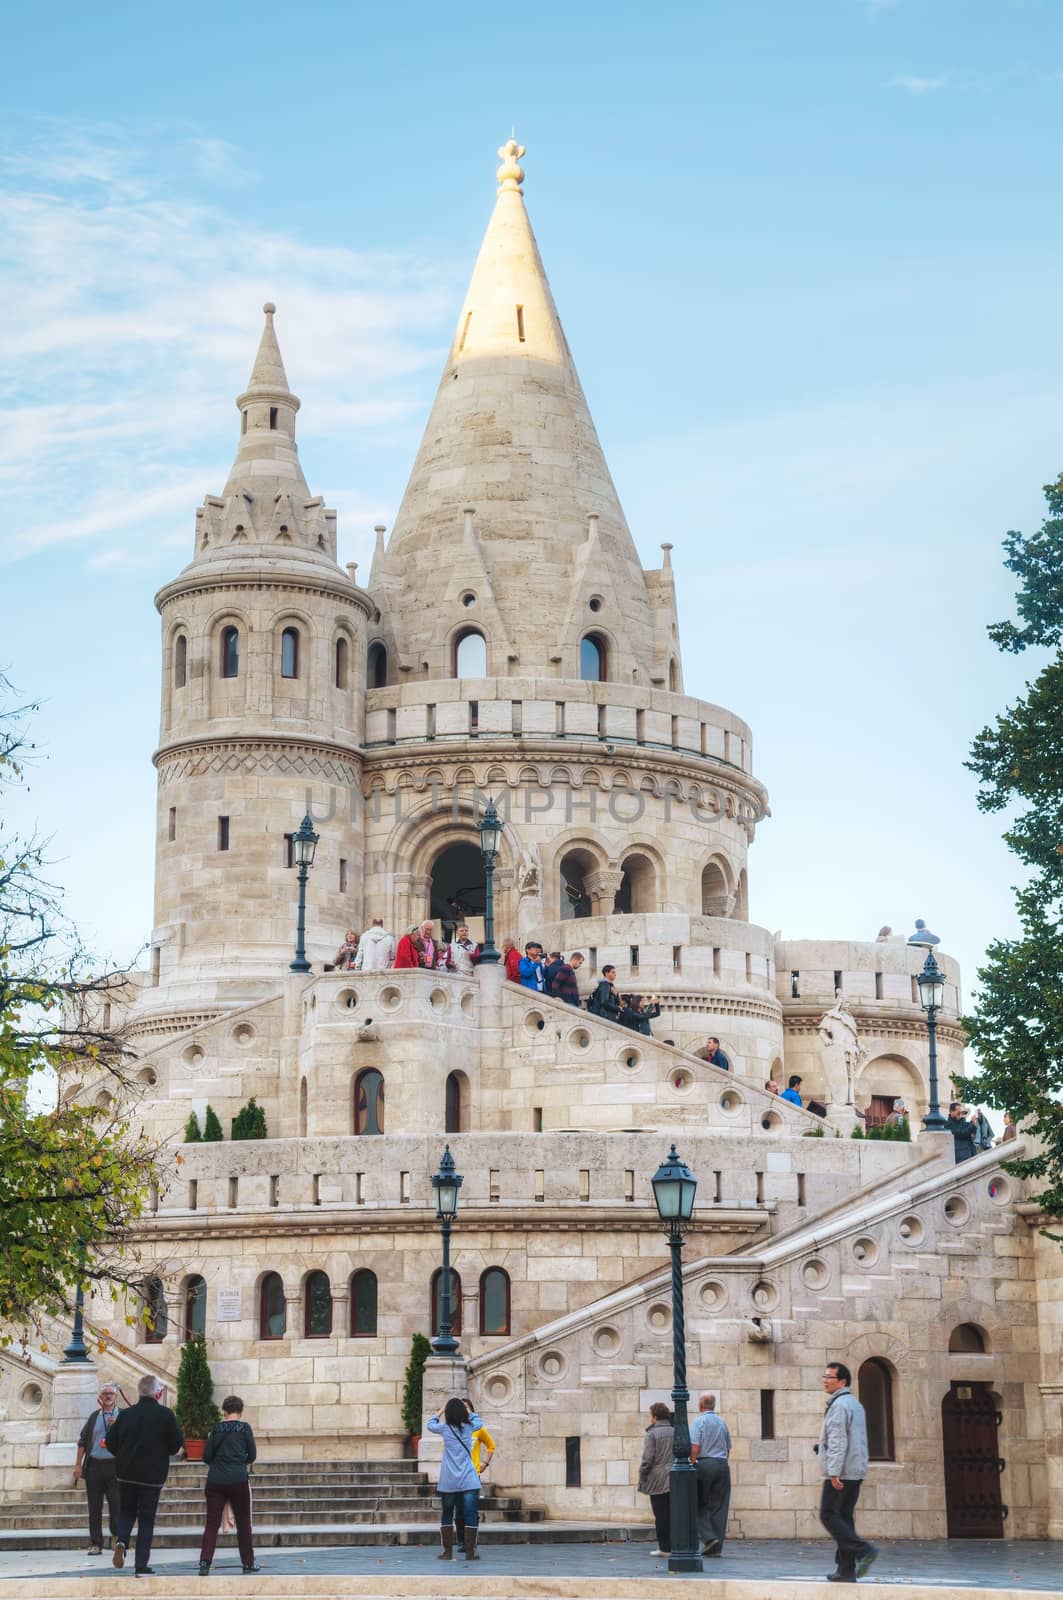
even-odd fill
[[[583,949],[661,992],[676,1043],[733,1018],[743,1067],[781,1056],[746,853],[767,795],[744,722],[682,690],[671,566],[644,571],[523,203],[495,211],[370,589],[367,906],[395,928],[475,920],[475,813],[507,821],[496,934]]]

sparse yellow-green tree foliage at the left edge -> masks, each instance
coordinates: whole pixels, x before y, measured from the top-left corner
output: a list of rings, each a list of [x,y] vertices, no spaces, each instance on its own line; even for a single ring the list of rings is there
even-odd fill
[[[24,782],[35,709],[0,677],[0,792]],[[128,1120],[141,1090],[126,978],[91,973],[46,870],[45,843],[0,818],[3,1344],[67,1312],[78,1283],[110,1294],[139,1283],[125,1237],[162,1179],[158,1149]]]

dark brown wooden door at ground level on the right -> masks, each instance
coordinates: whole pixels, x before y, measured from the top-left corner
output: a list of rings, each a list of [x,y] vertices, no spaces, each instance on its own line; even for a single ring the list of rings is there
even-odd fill
[[[953,1384],[941,1400],[945,1509],[949,1539],[1004,1538],[997,1453],[1001,1413],[988,1384]]]

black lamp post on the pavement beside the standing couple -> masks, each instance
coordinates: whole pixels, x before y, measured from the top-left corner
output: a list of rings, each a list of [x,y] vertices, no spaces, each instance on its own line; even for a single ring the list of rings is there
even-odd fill
[[[682,1266],[684,1235],[690,1227],[696,1189],[698,1179],[687,1163],[679,1160],[676,1146],[672,1146],[668,1160],[653,1174],[653,1198],[672,1253],[672,1411],[676,1413],[676,1430],[672,1470],[668,1483],[672,1525],[669,1573],[704,1571],[698,1549],[698,1470],[690,1459],[690,1422],[687,1421],[690,1390],[687,1389]]]

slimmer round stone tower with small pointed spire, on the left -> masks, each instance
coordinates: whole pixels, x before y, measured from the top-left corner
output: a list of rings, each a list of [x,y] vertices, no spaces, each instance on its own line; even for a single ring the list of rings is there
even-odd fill
[[[152,978],[269,973],[293,944],[291,834],[331,811],[311,875],[320,958],[360,920],[360,731],[368,595],[336,565],[336,514],[299,464],[272,304],[223,494],[195,514],[195,552],[155,603],[162,733]],[[319,810],[320,816],[320,810]]]

